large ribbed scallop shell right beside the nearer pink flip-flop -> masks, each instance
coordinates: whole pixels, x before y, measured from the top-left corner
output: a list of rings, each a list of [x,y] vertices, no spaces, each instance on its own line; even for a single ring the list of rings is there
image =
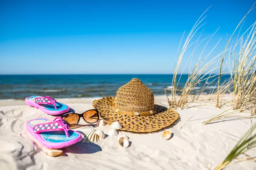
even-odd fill
[[[81,143],[99,142],[99,135],[95,133],[96,130],[94,129],[87,128],[87,129],[78,130],[77,132],[81,133],[82,135],[82,140],[80,141]]]

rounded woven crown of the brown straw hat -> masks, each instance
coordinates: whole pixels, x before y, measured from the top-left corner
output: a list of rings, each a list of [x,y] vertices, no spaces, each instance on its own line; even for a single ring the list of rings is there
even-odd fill
[[[116,109],[130,113],[148,113],[154,110],[154,94],[140,79],[132,79],[116,92]]]

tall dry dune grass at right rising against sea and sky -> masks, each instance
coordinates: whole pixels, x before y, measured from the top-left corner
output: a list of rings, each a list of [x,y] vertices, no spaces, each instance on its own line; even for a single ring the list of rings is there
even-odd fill
[[[224,47],[224,51],[219,53],[216,56],[210,58],[209,56],[212,54],[212,51],[215,49],[216,45],[218,45],[219,41],[215,44],[212,50],[208,54],[204,54],[207,45],[209,44],[210,40],[214,36],[212,35],[201,39],[201,34],[199,35],[198,39],[195,39],[195,35],[198,34],[197,32],[204,26],[203,23],[205,12],[206,10],[197,20],[195,25],[192,27],[192,30],[189,32],[188,36],[183,45],[181,45],[182,40],[184,39],[184,35],[180,42],[178,53],[175,62],[175,70],[172,79],[172,89],[170,90],[171,97],[168,97],[168,93],[166,91],[166,96],[168,99],[169,106],[175,109],[184,109],[186,108],[187,103],[195,102],[195,98],[192,99],[191,96],[195,96],[193,94],[196,90],[195,87],[200,82],[208,82],[212,77],[218,77],[217,90],[212,90],[211,99],[216,100],[216,107],[221,108],[222,100],[225,96],[224,94],[230,93],[232,94],[232,99],[228,102],[229,105],[232,105],[234,110],[244,111],[252,108],[254,105],[254,114],[256,112],[256,22],[253,23],[240,37],[237,37],[236,43],[234,45],[230,45],[233,41],[233,37],[239,26],[242,25],[245,17],[254,9],[254,5],[250,8],[250,10],[245,14],[239,24],[236,26],[233,34],[227,40],[227,44]],[[241,29],[241,28],[240,28]],[[218,31],[218,30],[216,30]],[[240,33],[240,31],[239,31]],[[239,35],[239,34],[238,34]],[[192,67],[192,59],[195,58],[195,51],[198,49],[200,45],[204,47],[201,49],[200,54],[198,55],[198,61],[196,62],[195,66]],[[185,85],[182,89],[178,89],[180,78],[183,74],[183,71],[178,77],[178,72],[182,68],[180,68],[183,57],[187,51],[191,51],[192,53],[187,59],[186,64],[183,68],[187,67],[189,61],[189,75],[188,79],[186,80]],[[180,50],[181,49],[181,50]],[[179,52],[180,51],[180,52]],[[229,54],[227,54],[229,51]],[[224,72],[224,69],[228,67],[230,70]],[[219,74],[212,74],[214,71],[219,70]],[[221,77],[223,74],[230,74],[230,79],[225,80],[221,83]],[[212,85],[213,82],[209,84]],[[208,85],[209,85],[208,84]],[[198,97],[204,92],[207,88],[207,85],[204,85],[203,88],[198,92]],[[180,91],[181,94],[177,95],[177,92]],[[213,97],[212,97],[213,96]],[[196,99],[198,99],[198,97]],[[227,103],[225,103],[227,105]]]

